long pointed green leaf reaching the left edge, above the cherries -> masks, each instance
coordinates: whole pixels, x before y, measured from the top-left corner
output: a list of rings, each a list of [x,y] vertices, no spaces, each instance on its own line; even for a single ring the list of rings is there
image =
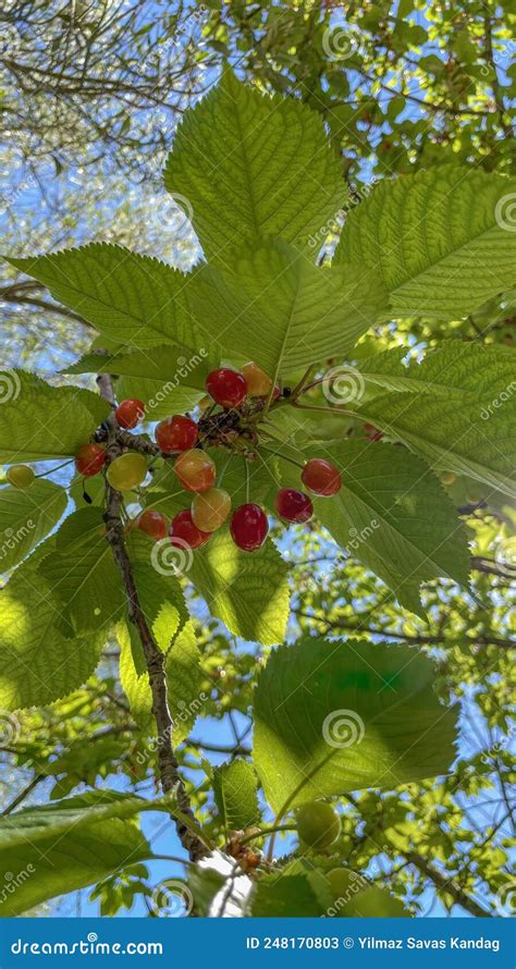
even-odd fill
[[[90,243],[8,261],[45,283],[56,299],[119,343],[202,345],[188,312],[186,278],[158,259],[122,246]]]

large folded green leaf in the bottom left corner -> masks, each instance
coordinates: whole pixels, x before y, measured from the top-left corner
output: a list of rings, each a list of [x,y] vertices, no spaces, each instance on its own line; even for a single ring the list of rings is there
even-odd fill
[[[152,857],[134,815],[159,802],[91,792],[0,820],[0,875],[16,879],[3,893],[0,916],[17,916],[49,898],[98,882],[116,869]],[[19,876],[21,873],[25,875]]]

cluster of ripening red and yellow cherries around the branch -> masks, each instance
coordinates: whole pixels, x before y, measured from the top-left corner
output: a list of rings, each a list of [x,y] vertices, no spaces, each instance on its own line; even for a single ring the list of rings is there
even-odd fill
[[[221,367],[212,370],[206,380],[206,390],[223,412],[236,410],[249,397],[279,396],[279,389],[256,364],[246,364],[242,370]],[[122,401],[114,412],[119,427],[131,430],[145,416],[142,401]],[[192,505],[179,512],[170,527],[162,514],[145,511],[138,518],[138,527],[155,540],[170,535],[173,544],[197,549],[230,517],[231,495],[216,487],[217,467],[210,455],[202,450],[199,426],[191,417],[174,415],[158,424],[156,443],[161,454],[175,456],[174,473],[185,489],[194,494]],[[77,471],[90,477],[98,474],[106,462],[106,451],[99,444],[84,444],[75,459]],[[126,491],[136,488],[145,478],[147,461],[136,452],[126,452],[111,462],[107,478],[112,488]],[[324,458],[310,458],[302,469],[302,481],[312,494],[331,495],[341,488],[339,469]],[[308,522],[314,506],[308,494],[294,488],[280,488],[275,496],[275,511],[288,523]],[[239,505],[231,517],[230,531],[234,542],[246,552],[259,549],[269,530],[263,508],[254,503]]]

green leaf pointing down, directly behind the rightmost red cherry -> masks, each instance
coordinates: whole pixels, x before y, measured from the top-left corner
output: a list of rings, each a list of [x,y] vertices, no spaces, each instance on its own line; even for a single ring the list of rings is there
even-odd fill
[[[423,462],[403,447],[363,441],[325,443],[320,456],[341,469],[343,483],[331,500],[315,499],[317,517],[402,605],[420,614],[419,587],[438,576],[467,587],[465,527]]]

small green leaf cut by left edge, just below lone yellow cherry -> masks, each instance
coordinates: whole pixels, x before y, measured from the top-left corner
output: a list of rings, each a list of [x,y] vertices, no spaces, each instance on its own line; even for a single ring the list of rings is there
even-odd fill
[[[34,481],[30,488],[0,489],[0,571],[8,572],[58,524],[66,508],[64,488]]]

